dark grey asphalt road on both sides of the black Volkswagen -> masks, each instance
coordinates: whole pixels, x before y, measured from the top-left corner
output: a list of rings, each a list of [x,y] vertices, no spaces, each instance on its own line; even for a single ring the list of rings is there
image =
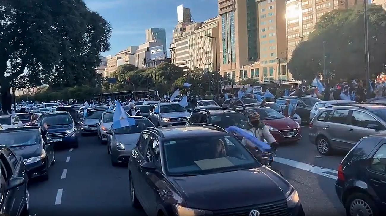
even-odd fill
[[[282,145],[273,167],[298,191],[306,215],[344,216],[334,182],[344,153],[318,155],[301,128],[298,143]],[[78,149],[56,150],[48,181],[30,183],[30,213],[36,216],[145,216],[129,202],[127,167],[113,167],[97,136],[80,137]],[[310,165],[311,164],[311,165]],[[326,169],[323,169],[326,168]],[[335,178],[335,179],[334,179]]]

